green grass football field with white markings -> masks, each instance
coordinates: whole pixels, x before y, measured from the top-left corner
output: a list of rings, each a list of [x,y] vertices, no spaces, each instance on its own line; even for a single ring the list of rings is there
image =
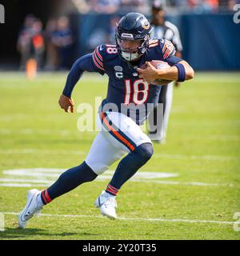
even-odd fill
[[[139,170],[174,175],[126,182],[119,219],[94,208],[110,180],[103,175],[18,229],[26,191],[54,182],[61,171],[55,169],[82,162],[96,135],[78,131],[77,111],[58,107],[65,80],[66,74],[39,74],[30,82],[24,74],[0,73],[0,239],[240,239],[239,73],[197,73],[174,90],[167,143],[154,144],[153,158]],[[106,89],[106,78],[85,75],[74,90],[76,106],[94,104]]]

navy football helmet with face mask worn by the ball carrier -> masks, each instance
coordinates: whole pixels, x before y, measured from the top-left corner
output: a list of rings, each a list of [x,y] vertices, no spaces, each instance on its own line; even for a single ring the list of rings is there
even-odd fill
[[[116,28],[118,54],[127,62],[141,58],[149,46],[152,27],[143,14],[129,13],[121,18]],[[126,42],[132,42],[126,44]],[[135,48],[127,47],[128,45]]]

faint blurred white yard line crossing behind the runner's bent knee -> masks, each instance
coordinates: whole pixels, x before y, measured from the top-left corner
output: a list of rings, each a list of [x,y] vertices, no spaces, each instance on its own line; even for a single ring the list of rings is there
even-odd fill
[[[0,154],[77,154],[86,155],[86,151],[81,150],[38,150],[38,149],[0,149]],[[179,159],[179,160],[205,160],[205,161],[232,161],[239,160],[240,156],[226,155],[188,155],[188,154],[158,154],[153,158]]]

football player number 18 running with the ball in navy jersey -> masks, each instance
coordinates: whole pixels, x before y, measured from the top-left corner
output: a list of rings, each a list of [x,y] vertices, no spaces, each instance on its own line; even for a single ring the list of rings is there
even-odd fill
[[[183,82],[194,77],[190,65],[174,56],[171,42],[162,39],[150,41],[151,30],[150,22],[144,15],[126,14],[118,22],[115,45],[98,46],[93,53],[74,62],[58,103],[66,112],[69,109],[74,112],[71,94],[83,72],[107,74],[107,95],[99,107],[99,126],[102,129],[84,162],[66,170],[46,190],[28,191],[26,206],[18,216],[20,227],[25,227],[42,206],[84,182],[94,181],[126,154],[106,190],[95,201],[101,214],[117,218],[115,198],[118,191],[154,154],[150,138],[138,126],[149,114],[145,106],[158,102],[161,86],[154,86],[151,82],[161,78]],[[151,65],[152,60],[168,62],[170,68],[158,70]],[[145,63],[146,69],[141,69]],[[128,110],[134,109],[134,106],[139,106],[139,111],[133,117]],[[142,109],[143,114],[140,113]]]

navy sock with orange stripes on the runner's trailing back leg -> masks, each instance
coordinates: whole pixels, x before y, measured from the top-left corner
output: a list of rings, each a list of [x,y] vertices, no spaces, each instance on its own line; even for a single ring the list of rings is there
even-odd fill
[[[47,190],[43,190],[41,194],[42,202],[46,204],[54,198],[74,190],[74,188],[84,182],[93,181],[97,176],[86,162],[82,162],[80,166],[66,170],[52,186]]]

